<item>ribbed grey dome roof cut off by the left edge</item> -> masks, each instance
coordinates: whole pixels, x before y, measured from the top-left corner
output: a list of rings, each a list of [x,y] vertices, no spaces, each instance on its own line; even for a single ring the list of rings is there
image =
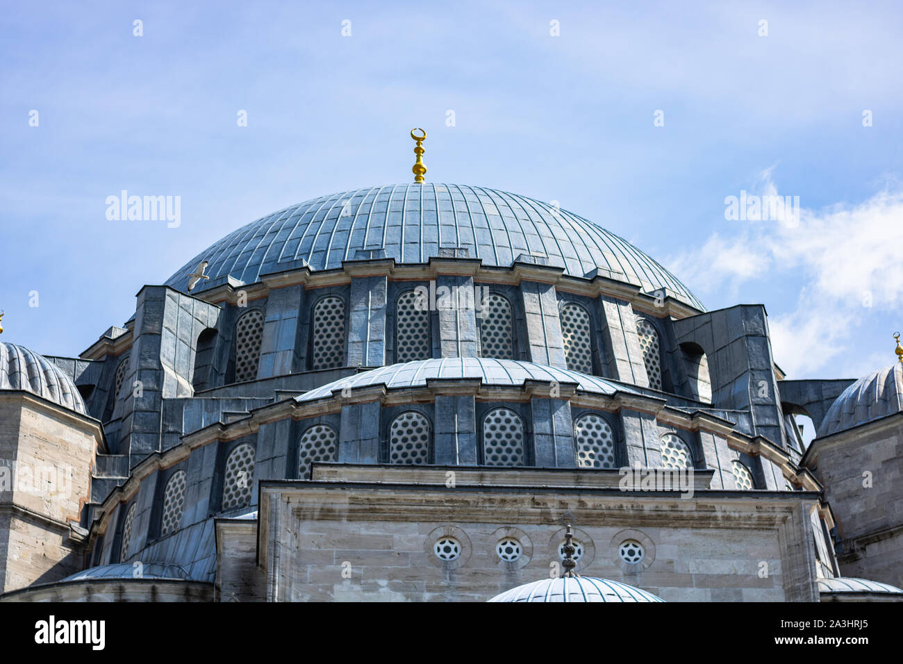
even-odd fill
[[[0,389],[23,389],[82,415],[87,413],[78,388],[62,369],[13,343],[0,342]]]

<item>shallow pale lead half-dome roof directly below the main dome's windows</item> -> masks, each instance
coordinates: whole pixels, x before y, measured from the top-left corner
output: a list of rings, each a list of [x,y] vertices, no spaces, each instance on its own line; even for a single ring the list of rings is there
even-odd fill
[[[418,388],[427,379],[481,379],[484,385],[521,386],[526,380],[554,380],[558,383],[577,383],[584,392],[610,396],[615,392],[638,394],[633,389],[615,385],[597,376],[588,376],[571,369],[546,367],[521,360],[495,360],[491,358],[443,358],[415,360],[402,364],[362,371],[354,376],[335,380],[321,388],[295,397],[298,402],[312,401],[332,396],[342,388],[362,388],[385,384],[386,388]]]

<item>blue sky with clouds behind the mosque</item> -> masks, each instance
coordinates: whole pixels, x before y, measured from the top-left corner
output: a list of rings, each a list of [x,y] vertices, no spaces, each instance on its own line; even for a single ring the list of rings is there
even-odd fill
[[[903,9],[685,5],[7,4],[4,340],[77,355],[228,231],[407,182],[423,126],[428,180],[559,201],[709,308],[765,304],[788,378],[889,365]],[[124,189],[181,196],[181,225],[107,220]],[[726,220],[741,190],[798,196],[798,224]]]

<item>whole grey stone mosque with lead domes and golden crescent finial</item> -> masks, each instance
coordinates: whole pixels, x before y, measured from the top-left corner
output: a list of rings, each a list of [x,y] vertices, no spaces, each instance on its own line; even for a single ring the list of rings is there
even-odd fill
[[[787,379],[762,304],[411,136],[78,358],[0,342],[0,601],[903,601],[899,344]]]

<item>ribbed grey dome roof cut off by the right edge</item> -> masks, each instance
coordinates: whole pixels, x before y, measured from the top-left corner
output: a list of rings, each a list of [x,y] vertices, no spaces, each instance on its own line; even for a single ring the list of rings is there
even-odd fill
[[[818,435],[835,434],[901,410],[903,363],[895,362],[844,389],[828,408],[822,426],[818,428]]]

